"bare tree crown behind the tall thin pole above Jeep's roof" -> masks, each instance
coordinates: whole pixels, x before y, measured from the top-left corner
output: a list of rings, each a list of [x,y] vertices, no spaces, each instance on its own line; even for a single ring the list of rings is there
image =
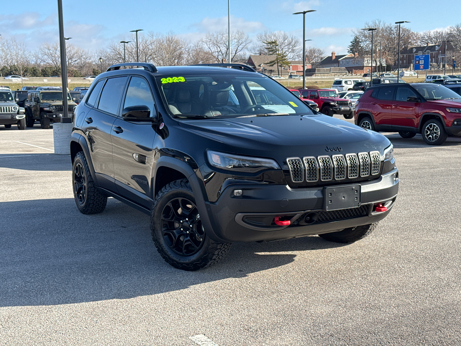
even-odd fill
[[[201,42],[207,51],[213,55],[215,62],[228,61],[227,31],[208,33]],[[238,54],[246,51],[250,43],[250,38],[243,31],[231,32],[231,61],[235,61]]]

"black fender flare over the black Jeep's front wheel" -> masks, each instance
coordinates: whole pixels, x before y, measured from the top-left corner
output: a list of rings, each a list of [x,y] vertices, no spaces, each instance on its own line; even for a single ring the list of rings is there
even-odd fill
[[[155,186],[155,177],[160,167],[169,167],[184,174],[184,176],[188,179],[190,187],[194,194],[195,204],[197,205],[197,209],[199,211],[200,219],[203,228],[205,229],[205,232],[213,241],[219,243],[227,243],[227,241],[217,236],[213,230],[210,217],[208,215],[208,208],[205,203],[207,198],[207,194],[205,192],[205,185],[203,185],[203,182],[201,182],[200,179],[197,177],[197,174],[194,172],[192,167],[190,167],[186,162],[176,159],[174,157],[160,156],[159,160],[157,161],[157,164],[155,165],[154,182],[152,184],[153,186]]]

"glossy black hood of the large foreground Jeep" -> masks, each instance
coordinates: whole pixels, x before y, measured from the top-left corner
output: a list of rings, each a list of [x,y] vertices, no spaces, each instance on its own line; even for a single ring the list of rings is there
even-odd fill
[[[372,150],[383,154],[390,145],[390,141],[378,132],[326,115],[186,120],[179,123],[184,128],[230,145],[236,154],[269,157],[280,165],[287,157]],[[333,152],[326,150],[335,147],[337,150]]]

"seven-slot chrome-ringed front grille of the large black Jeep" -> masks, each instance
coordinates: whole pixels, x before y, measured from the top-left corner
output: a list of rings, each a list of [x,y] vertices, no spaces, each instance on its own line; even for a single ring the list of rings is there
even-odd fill
[[[291,180],[294,183],[312,183],[343,179],[366,178],[378,175],[381,169],[379,151],[370,153],[350,153],[346,155],[320,155],[288,157]]]

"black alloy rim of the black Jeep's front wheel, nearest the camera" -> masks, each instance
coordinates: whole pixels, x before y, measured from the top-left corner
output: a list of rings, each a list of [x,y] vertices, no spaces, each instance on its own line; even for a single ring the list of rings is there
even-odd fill
[[[165,244],[178,255],[192,256],[201,249],[205,231],[197,206],[188,198],[176,197],[166,203],[160,222]]]

